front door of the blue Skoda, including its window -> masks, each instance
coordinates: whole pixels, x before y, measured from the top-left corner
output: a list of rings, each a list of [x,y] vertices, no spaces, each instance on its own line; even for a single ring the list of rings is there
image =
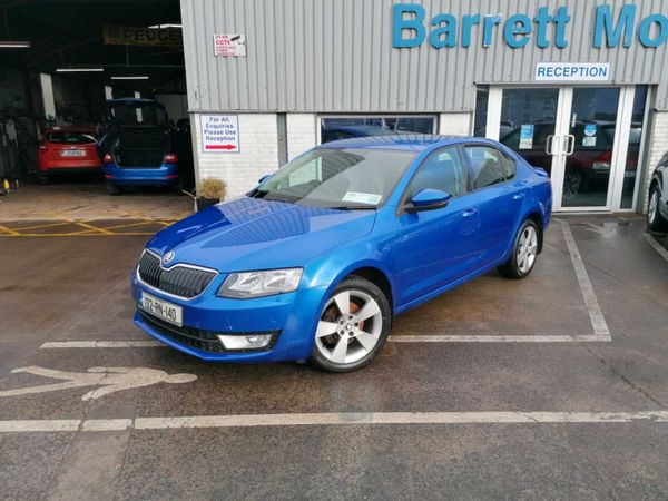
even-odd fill
[[[456,147],[430,155],[413,176],[404,205],[422,189],[452,196],[431,210],[401,210],[399,274],[401,305],[420,299],[470,274],[475,267],[478,207],[468,195],[466,168]]]

